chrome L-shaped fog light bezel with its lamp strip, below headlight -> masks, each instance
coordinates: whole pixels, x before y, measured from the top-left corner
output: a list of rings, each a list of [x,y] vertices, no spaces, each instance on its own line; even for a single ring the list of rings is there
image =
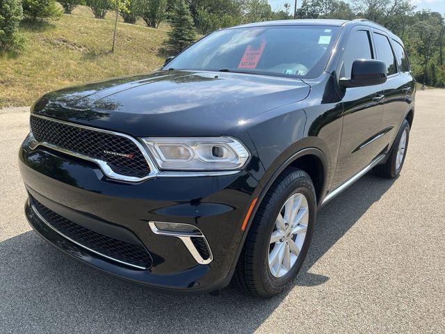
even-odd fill
[[[165,221],[149,221],[148,225],[154,234],[181,239],[188,252],[193,256],[197,263],[209,264],[212,262],[213,254],[211,253],[209,242],[207,242],[207,239],[202,231],[195,225],[185,223],[170,223]],[[204,244],[207,246],[207,250],[209,251],[209,258],[204,259],[201,256],[191,238],[201,238],[204,241]]]

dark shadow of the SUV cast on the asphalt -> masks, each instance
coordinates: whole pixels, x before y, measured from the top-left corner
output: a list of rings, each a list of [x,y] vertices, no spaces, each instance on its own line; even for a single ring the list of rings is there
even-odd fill
[[[309,269],[393,183],[368,174],[318,212],[293,289],[329,279]],[[220,296],[157,294],[71,260],[32,231],[0,243],[0,282],[3,333],[252,333],[286,298],[232,285]]]

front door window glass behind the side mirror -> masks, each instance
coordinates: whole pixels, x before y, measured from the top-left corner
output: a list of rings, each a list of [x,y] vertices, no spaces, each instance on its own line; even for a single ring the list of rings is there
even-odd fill
[[[373,52],[371,49],[371,43],[369,33],[366,30],[353,31],[348,38],[348,44],[346,45],[343,53],[343,68],[341,77],[350,78],[350,72],[353,68],[353,63],[357,59],[372,59]]]

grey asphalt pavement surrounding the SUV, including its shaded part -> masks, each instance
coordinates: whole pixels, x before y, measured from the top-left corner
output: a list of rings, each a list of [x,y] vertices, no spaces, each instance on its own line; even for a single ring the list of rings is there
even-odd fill
[[[274,299],[156,294],[63,255],[26,222],[27,108],[0,109],[0,333],[445,333],[445,90],[419,91],[401,176],[369,173],[318,212]]]

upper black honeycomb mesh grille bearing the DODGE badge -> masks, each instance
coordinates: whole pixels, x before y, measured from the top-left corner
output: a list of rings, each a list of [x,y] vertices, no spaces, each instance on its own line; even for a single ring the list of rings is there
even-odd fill
[[[31,130],[37,141],[106,161],[115,173],[132,177],[145,177],[149,174],[145,157],[129,138],[36,116],[31,116]],[[132,157],[122,157],[104,151],[132,154]]]

